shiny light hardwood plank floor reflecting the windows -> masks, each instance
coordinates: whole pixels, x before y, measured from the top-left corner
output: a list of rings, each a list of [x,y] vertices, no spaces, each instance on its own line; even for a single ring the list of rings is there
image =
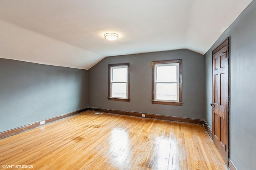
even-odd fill
[[[202,125],[94,113],[1,139],[0,169],[227,170]]]

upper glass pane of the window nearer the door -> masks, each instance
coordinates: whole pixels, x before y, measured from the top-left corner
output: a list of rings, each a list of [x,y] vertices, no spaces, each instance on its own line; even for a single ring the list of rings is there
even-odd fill
[[[156,66],[156,82],[177,82],[177,65]]]

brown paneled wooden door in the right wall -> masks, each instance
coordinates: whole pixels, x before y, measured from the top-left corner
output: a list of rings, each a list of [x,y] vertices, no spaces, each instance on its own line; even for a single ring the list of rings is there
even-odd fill
[[[228,163],[229,38],[212,52],[212,139]]]

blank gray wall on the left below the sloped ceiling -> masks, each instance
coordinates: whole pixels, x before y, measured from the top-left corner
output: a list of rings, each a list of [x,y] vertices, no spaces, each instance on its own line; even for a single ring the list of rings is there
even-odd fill
[[[0,132],[88,107],[88,70],[0,59]]]

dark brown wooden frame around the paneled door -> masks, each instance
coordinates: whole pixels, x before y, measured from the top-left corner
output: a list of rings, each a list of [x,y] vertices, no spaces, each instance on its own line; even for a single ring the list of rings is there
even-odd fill
[[[220,49],[222,49],[224,46],[228,46],[227,48],[227,52],[226,52],[226,55],[227,55],[227,58],[228,58],[228,91],[227,91],[227,94],[228,95],[228,108],[227,108],[227,119],[226,119],[226,133],[227,133],[227,157],[224,158],[224,160],[226,160],[226,165],[228,166],[228,159],[229,159],[229,145],[230,145],[230,133],[229,133],[229,129],[230,129],[230,37],[227,37],[222,43],[220,43],[220,45],[218,45],[218,47],[216,47],[213,51],[212,51],[212,62],[213,62],[213,58],[214,58],[214,54],[216,52],[218,52]],[[213,63],[212,63],[213,65]],[[214,84],[213,84],[213,69],[212,69],[212,103],[214,101],[213,99],[213,87],[214,87]],[[214,107],[214,106],[212,106]],[[212,116],[213,116],[213,109],[212,109]],[[212,132],[213,132],[213,128],[214,128],[214,120],[213,120],[213,117],[212,117]],[[213,137],[213,133],[212,133],[212,137]],[[213,139],[213,138],[212,138]]]

